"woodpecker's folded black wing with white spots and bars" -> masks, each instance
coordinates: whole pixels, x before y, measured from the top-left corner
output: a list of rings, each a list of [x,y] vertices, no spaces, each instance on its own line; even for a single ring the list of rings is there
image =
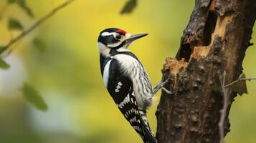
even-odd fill
[[[113,97],[115,104],[117,104],[125,119],[141,135],[143,142],[149,141],[151,143],[151,140],[155,140],[151,131],[148,130],[149,127],[147,127],[147,124],[143,124],[141,119],[133,92],[133,82],[127,75],[123,74],[116,59],[110,62],[108,92]]]

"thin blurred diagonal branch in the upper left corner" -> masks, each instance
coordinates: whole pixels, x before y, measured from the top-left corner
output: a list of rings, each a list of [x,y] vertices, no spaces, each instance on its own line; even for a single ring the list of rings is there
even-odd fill
[[[14,39],[11,39],[11,41],[9,41],[9,43],[4,46],[4,49],[1,49],[1,54],[0,54],[0,58],[4,58],[5,56],[8,56],[10,53],[6,53],[4,55],[4,52],[6,52],[7,50],[9,50],[9,48],[16,43],[17,41],[19,41],[20,39],[22,39],[24,36],[26,36],[27,34],[29,34],[31,31],[33,31],[35,28],[37,28],[37,26],[41,25],[44,21],[46,21],[47,19],[49,19],[50,17],[52,17],[57,11],[60,11],[60,9],[63,9],[65,6],[69,5],[70,3],[72,3],[75,0],[68,0],[66,2],[64,2],[63,4],[60,4],[60,6],[57,6],[55,9],[53,9],[52,11],[49,12],[49,14],[47,14],[46,16],[42,17],[41,19],[39,19],[38,21],[36,21],[32,26],[30,26],[28,29],[22,31],[21,34],[19,34],[19,36],[16,36]]]

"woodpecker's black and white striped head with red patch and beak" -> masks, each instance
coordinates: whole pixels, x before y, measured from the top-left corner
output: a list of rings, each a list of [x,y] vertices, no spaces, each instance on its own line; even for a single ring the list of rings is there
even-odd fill
[[[148,34],[128,34],[126,31],[117,28],[105,29],[98,37],[98,47],[100,54],[110,56],[110,51],[128,51],[128,46],[143,36]]]

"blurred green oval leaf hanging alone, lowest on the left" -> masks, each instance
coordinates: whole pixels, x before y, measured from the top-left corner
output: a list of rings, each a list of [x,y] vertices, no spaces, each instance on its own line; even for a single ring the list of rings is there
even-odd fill
[[[48,106],[44,102],[44,99],[31,85],[24,83],[22,92],[27,101],[29,101],[34,107],[43,112],[47,111]]]

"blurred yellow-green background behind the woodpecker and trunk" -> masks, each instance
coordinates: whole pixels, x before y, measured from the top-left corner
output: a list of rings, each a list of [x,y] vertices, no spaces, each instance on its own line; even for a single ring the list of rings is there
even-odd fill
[[[19,20],[27,29],[64,1],[26,2],[34,17],[18,4],[0,0],[1,46],[21,32],[8,29],[10,18]],[[179,48],[194,1],[138,1],[131,14],[120,14],[125,2],[77,0],[13,46],[15,50],[4,59],[11,67],[0,69],[1,143],[141,142],[103,85],[98,34],[108,27],[131,34],[149,33],[130,49],[141,59],[156,85],[161,80],[165,57],[174,57]],[[40,39],[41,48],[33,44],[35,37]],[[255,33],[251,42],[256,43]],[[255,51],[256,46],[247,49],[243,63],[247,77],[256,77]],[[47,112],[35,109],[24,98],[24,82],[42,95]],[[247,82],[247,87],[249,94],[236,97],[232,105],[231,132],[226,142],[256,142],[256,82]],[[156,132],[154,113],[159,97],[160,92],[148,112],[153,132]]]

